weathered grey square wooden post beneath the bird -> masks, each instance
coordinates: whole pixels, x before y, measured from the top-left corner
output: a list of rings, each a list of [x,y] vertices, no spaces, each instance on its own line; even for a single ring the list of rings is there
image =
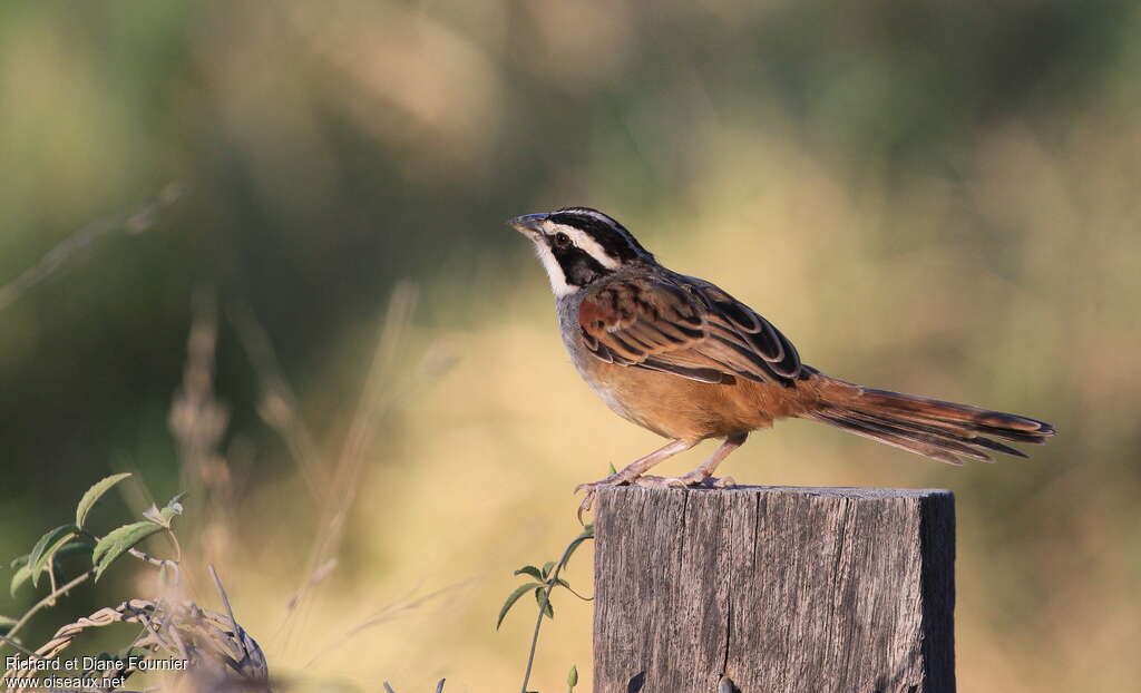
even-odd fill
[[[608,489],[596,542],[596,693],[955,690],[948,491]]]

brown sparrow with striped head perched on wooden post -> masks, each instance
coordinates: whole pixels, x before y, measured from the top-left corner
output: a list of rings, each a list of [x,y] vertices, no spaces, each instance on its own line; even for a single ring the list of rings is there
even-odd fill
[[[748,434],[779,419],[834,426],[961,465],[1026,453],[1054,427],[1029,417],[875,389],[801,361],[771,322],[717,284],[659,264],[625,226],[589,207],[515,217],[556,299],[563,343],[578,374],[620,417],[669,442],[621,470],[580,484],[578,518],[599,489],[727,486],[713,476]],[[647,472],[702,441],[721,444],[693,472]],[[995,440],[1000,438],[1000,440]]]

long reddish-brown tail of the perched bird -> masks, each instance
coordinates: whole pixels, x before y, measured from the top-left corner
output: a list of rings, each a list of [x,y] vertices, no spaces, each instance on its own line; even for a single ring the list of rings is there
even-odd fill
[[[1018,457],[1026,453],[995,438],[1015,443],[1045,443],[1054,435],[1050,424],[883,389],[872,389],[820,373],[820,403],[800,414],[849,433],[901,448],[941,462],[962,465],[960,458],[993,461],[990,452]]]

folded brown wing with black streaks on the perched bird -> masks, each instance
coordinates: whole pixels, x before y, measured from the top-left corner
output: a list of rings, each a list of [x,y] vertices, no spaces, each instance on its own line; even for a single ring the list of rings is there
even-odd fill
[[[718,287],[682,275],[607,282],[578,308],[586,348],[602,361],[704,382],[736,376],[791,385],[796,349]]]

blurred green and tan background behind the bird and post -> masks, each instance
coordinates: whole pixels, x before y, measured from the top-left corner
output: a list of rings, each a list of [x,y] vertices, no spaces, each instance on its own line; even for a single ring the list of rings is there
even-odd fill
[[[189,490],[188,589],[218,604],[212,562],[283,682],[517,686],[511,571],[658,444],[577,379],[503,225],[588,204],[827,372],[1053,422],[950,468],[796,421],[729,468],[952,489],[960,690],[1127,690],[1139,74],[1135,2],[5,2],[0,557],[135,472],[96,524]],[[555,606],[532,686],[589,690],[590,606]]]

